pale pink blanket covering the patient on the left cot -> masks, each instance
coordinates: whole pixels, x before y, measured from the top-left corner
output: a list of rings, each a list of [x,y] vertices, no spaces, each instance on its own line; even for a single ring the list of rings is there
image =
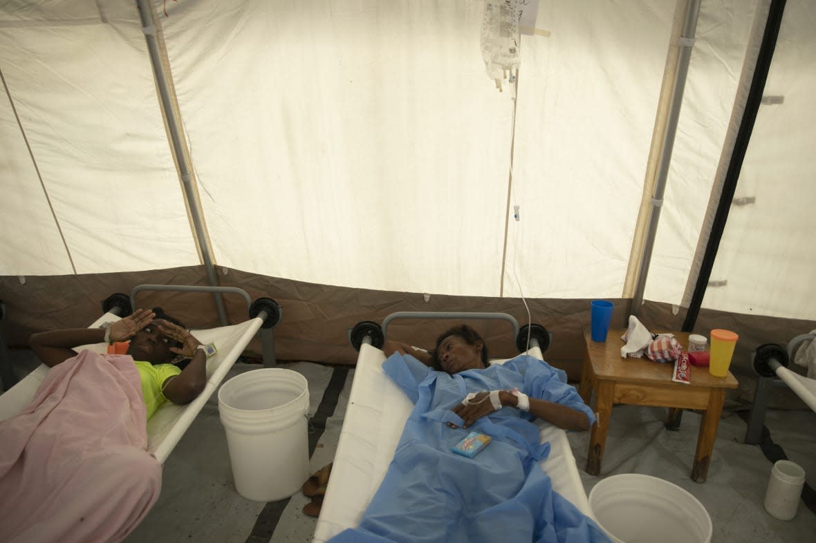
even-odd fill
[[[122,541],[162,486],[127,355],[56,365],[0,444],[0,541]]]

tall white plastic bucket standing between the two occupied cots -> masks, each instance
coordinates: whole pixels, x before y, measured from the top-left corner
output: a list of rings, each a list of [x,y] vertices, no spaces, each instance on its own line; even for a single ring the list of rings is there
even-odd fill
[[[276,501],[308,479],[308,382],[290,369],[254,369],[218,392],[238,493]]]

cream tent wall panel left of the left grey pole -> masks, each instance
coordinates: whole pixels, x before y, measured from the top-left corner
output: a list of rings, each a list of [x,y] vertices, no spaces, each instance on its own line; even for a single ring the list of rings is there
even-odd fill
[[[140,26],[82,21],[0,26],[3,74],[76,272],[197,264]],[[11,148],[24,148],[19,129],[8,134]],[[4,172],[31,196],[35,225],[20,230],[50,226],[53,232],[27,242],[29,258],[5,246],[10,236],[3,236],[2,253],[10,255],[3,272],[72,273],[32,169],[18,154]],[[20,210],[17,221],[29,222]]]

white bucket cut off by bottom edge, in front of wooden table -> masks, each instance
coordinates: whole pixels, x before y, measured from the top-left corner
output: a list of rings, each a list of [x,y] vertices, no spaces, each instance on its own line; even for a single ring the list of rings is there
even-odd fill
[[[709,543],[712,519],[697,498],[650,475],[612,475],[589,492],[589,506],[614,543]]]

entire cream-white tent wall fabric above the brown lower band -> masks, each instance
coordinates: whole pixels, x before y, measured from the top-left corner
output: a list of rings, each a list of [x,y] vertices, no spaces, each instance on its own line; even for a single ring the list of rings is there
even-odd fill
[[[652,301],[683,302],[767,3],[702,2]],[[479,0],[154,2],[215,263],[354,288],[620,297],[684,6],[542,0],[514,100],[486,75]],[[727,284],[704,307],[816,319],[814,22],[787,2],[765,93],[784,102],[757,118],[737,194],[756,204],[732,209],[712,274]],[[140,27],[126,0],[0,3],[0,275],[201,262]]]

